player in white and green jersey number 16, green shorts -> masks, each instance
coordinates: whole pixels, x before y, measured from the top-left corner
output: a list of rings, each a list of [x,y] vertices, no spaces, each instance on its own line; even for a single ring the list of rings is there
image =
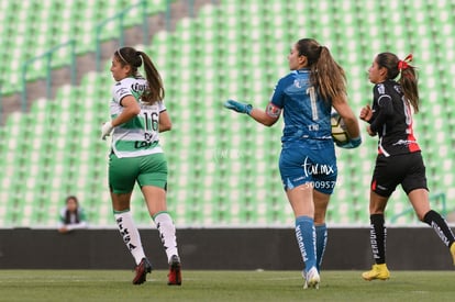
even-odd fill
[[[146,78],[137,71],[142,65]],[[163,102],[162,78],[151,58],[133,47],[114,53],[111,72],[115,80],[110,103],[111,121],[102,125],[101,138],[112,135],[109,188],[116,225],[136,262],[133,284],[144,283],[152,271],[130,212],[131,194],[137,182],[167,254],[168,284],[180,286],[176,227],[166,205],[167,161],[158,141],[158,133],[171,127]]]

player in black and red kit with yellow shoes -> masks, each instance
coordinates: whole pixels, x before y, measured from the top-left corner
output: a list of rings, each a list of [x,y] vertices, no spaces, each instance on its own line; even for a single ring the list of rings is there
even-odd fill
[[[429,224],[450,248],[455,264],[455,238],[447,222],[430,208],[425,166],[412,128],[412,110],[419,112],[417,72],[409,63],[391,53],[378,54],[368,78],[375,83],[373,107],[362,109],[359,118],[369,123],[367,132],[378,135],[378,156],[373,174],[369,214],[370,244],[375,265],[362,273],[365,280],[386,280],[386,226],[384,212],[398,184],[407,193],[419,220]],[[399,79],[395,80],[398,76]]]

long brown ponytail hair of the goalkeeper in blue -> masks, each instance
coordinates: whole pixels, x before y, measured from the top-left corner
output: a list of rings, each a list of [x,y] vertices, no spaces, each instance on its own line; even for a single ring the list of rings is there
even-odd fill
[[[313,38],[301,38],[296,47],[299,55],[307,57],[311,70],[310,79],[324,100],[340,94],[346,96],[346,75],[328,47]]]

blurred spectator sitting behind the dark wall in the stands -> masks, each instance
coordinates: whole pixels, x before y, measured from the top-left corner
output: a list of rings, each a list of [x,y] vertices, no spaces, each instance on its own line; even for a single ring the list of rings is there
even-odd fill
[[[60,211],[58,232],[68,233],[76,228],[87,228],[86,214],[79,206],[77,198],[69,195],[65,200],[65,208]]]

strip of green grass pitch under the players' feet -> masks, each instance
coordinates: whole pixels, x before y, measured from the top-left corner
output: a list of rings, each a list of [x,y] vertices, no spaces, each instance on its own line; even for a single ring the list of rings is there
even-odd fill
[[[156,270],[142,286],[127,270],[0,270],[0,301],[455,301],[454,271],[391,271],[364,281],[360,271],[323,271],[303,290],[299,271],[184,271],[181,287]]]

